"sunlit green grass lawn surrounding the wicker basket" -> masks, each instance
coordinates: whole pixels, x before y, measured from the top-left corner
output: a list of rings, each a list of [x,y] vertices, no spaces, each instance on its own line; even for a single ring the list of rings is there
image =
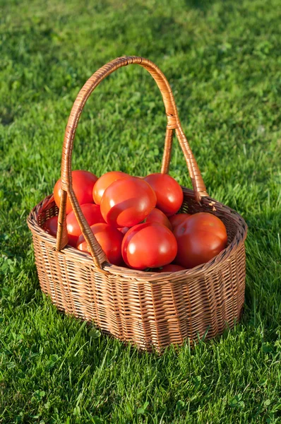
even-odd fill
[[[0,0],[0,423],[281,423],[279,0]],[[148,57],[174,90],[211,196],[246,219],[241,323],[139,353],[59,314],[40,291],[30,209],[60,175],[78,90],[115,57]],[[93,93],[73,169],[160,169],[162,99],[128,66]],[[190,185],[175,143],[171,174]]]

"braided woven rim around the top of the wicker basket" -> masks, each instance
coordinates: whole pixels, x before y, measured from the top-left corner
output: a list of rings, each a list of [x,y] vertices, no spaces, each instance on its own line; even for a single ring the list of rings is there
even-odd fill
[[[191,198],[195,198],[194,192],[191,189],[187,189],[186,187],[182,187],[184,193],[188,194]],[[47,232],[43,230],[42,227],[40,227],[37,216],[38,216],[38,209],[42,208],[44,210],[49,206],[49,204],[52,204],[54,201],[53,194],[50,194],[49,196],[45,197],[42,201],[39,202],[34,208],[32,208],[32,211],[30,211],[30,214],[28,215],[28,227],[30,230],[36,230],[37,233],[40,233],[41,236],[44,236],[50,245],[53,245],[52,249],[56,249],[56,237],[49,235]],[[217,254],[213,259],[210,259],[210,261],[206,262],[205,264],[201,264],[198,266],[195,266],[191,269],[176,271],[176,272],[165,272],[165,273],[155,273],[153,271],[138,271],[136,269],[128,269],[124,266],[116,266],[113,264],[109,264],[108,262],[104,262],[102,269],[96,268],[95,270],[97,272],[101,273],[107,273],[107,274],[114,274],[118,276],[122,276],[123,278],[128,279],[138,279],[140,281],[149,281],[150,283],[159,283],[161,281],[169,281],[169,276],[173,276],[173,278],[179,276],[185,275],[186,278],[193,278],[193,276],[198,276],[200,273],[205,273],[210,268],[214,268],[219,266],[222,261],[227,260],[230,256],[232,256],[233,251],[236,250],[242,243],[244,243],[244,240],[246,239],[247,234],[247,225],[244,220],[244,218],[239,215],[237,211],[234,211],[234,209],[229,208],[229,206],[226,206],[219,201],[209,197],[205,196],[201,199],[201,204],[208,204],[209,206],[213,206],[215,208],[216,205],[220,205],[220,207],[224,208],[224,211],[227,213],[227,218],[229,219],[235,219],[239,221],[239,228],[237,229],[237,234],[234,236],[232,242],[229,243],[229,245],[220,252],[220,254]],[[83,263],[88,262],[89,266],[94,266],[94,263],[92,261],[92,257],[90,254],[81,252],[80,250],[76,249],[75,247],[71,247],[67,245],[64,249],[61,250],[61,254],[70,255],[71,257],[74,257],[76,260],[83,260]],[[73,258],[73,259],[74,259]]]

